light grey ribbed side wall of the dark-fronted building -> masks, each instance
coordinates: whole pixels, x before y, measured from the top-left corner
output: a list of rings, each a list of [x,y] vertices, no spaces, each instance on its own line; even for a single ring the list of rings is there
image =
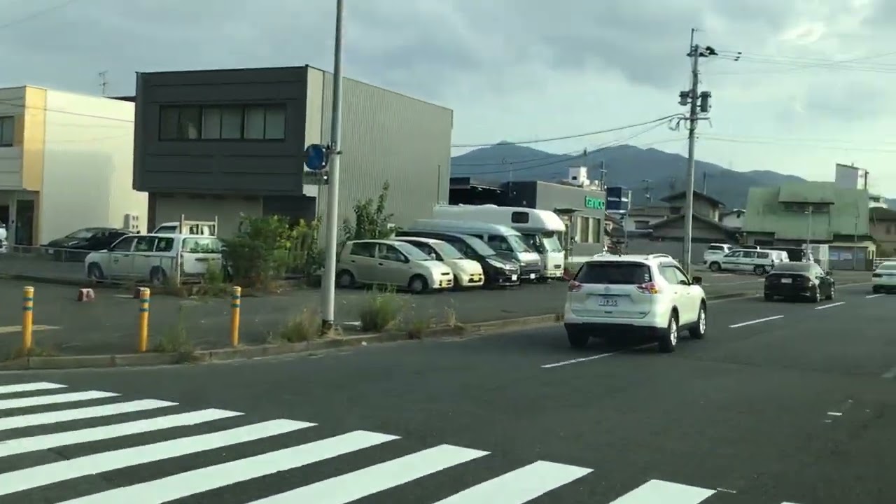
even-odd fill
[[[353,218],[353,204],[379,196],[386,181],[395,224],[431,217],[435,204],[448,202],[452,110],[351,79],[342,91],[340,222]],[[311,68],[307,142],[329,142],[331,108],[332,74]]]

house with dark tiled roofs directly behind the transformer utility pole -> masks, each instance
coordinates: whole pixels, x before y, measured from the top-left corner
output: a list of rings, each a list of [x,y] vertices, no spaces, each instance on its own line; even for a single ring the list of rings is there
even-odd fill
[[[652,224],[651,239],[680,241],[685,237],[685,191],[662,198],[667,203],[668,217]],[[725,204],[712,196],[694,191],[694,226],[692,241],[697,243],[735,243],[737,230],[719,222]]]

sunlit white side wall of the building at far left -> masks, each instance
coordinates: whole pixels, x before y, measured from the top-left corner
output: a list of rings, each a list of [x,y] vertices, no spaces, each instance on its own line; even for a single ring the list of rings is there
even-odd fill
[[[134,103],[47,91],[39,241],[80,228],[123,227],[139,215],[145,231],[147,195],[134,191]]]

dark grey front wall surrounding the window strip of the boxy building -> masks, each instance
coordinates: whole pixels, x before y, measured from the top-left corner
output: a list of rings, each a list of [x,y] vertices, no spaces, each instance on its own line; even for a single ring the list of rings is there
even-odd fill
[[[134,189],[147,192],[301,195],[307,67],[137,75]],[[159,140],[164,105],[286,105],[283,141]]]

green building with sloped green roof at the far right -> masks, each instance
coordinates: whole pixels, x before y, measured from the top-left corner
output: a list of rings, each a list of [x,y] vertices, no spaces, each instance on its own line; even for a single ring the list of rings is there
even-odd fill
[[[751,187],[742,229],[759,246],[828,244],[832,268],[864,269],[875,248],[868,212],[867,191],[833,182]]]

